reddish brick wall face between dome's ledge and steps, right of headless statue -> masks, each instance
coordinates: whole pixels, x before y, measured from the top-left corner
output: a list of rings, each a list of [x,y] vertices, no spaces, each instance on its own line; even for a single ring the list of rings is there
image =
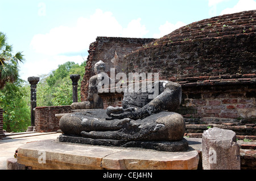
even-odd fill
[[[183,98],[178,110],[187,118],[225,118],[246,124],[256,119],[255,74],[173,79]],[[200,123],[202,124],[202,123]]]

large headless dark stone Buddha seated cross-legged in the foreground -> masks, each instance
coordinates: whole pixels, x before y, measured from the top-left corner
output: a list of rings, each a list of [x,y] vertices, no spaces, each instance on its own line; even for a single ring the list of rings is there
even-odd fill
[[[122,107],[68,113],[60,119],[63,132],[59,140],[82,144],[141,147],[163,151],[183,151],[188,144],[183,138],[183,116],[174,111],[181,102],[181,86],[170,81],[157,81],[158,96],[149,93],[124,93]],[[155,89],[154,88],[154,89]],[[175,144],[174,144],[175,143]]]

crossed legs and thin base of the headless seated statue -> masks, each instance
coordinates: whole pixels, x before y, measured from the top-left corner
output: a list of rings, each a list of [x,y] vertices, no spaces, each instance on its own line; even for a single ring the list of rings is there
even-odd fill
[[[127,119],[111,120],[105,110],[93,110],[70,113],[61,120],[61,127],[69,128],[66,132],[62,129],[64,134],[59,137],[61,142],[139,147],[160,151],[188,149],[188,142],[183,138],[185,132],[183,117],[175,112],[160,112],[142,120],[127,121]],[[86,124],[82,125],[86,121],[88,127],[92,126],[91,128],[85,128]],[[130,128],[126,128],[127,122]],[[97,128],[93,128],[96,126]],[[155,131],[155,129],[159,130]]]

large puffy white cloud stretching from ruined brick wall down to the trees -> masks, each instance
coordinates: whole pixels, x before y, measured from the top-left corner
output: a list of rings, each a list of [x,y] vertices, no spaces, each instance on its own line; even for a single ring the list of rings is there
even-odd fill
[[[124,28],[112,12],[97,9],[93,15],[77,19],[74,27],[55,27],[46,34],[35,35],[30,45],[38,58],[36,61],[28,58],[22,65],[21,77],[26,80],[29,76],[48,74],[67,61],[81,64],[87,59],[84,57],[83,60],[82,54],[86,54],[89,44],[97,36],[143,37],[147,33],[141,18],[131,20]]]

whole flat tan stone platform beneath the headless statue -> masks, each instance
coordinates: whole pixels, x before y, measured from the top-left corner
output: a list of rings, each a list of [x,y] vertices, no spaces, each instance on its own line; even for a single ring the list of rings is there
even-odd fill
[[[94,146],[44,140],[29,142],[18,149],[18,163],[32,169],[192,170],[199,153],[168,152],[142,148]]]

